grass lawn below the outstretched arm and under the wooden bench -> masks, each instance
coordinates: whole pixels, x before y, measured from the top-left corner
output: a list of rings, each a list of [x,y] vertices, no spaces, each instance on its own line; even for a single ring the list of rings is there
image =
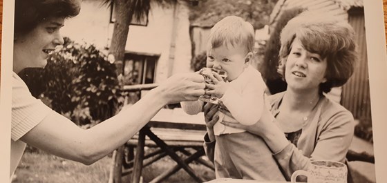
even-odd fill
[[[21,162],[15,172],[12,183],[107,183],[111,168],[111,157],[104,157],[90,166],[64,160],[61,157],[47,153],[24,153]],[[153,177],[160,175],[167,168],[176,165],[173,160],[164,157],[143,169],[144,182],[149,182]],[[204,180],[213,180],[214,171],[209,168],[190,164],[193,170]],[[164,182],[195,182],[184,170],[178,171]]]

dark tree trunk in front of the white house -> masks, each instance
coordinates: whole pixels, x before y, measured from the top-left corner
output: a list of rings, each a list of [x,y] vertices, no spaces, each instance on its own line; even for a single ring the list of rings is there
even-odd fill
[[[133,16],[135,0],[115,0],[115,23],[109,52],[115,58],[117,75],[122,74],[126,40],[128,39],[129,23]]]

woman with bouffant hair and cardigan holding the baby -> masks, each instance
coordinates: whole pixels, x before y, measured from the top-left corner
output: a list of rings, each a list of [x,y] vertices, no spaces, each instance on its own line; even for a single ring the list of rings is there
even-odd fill
[[[355,32],[348,23],[329,15],[301,13],[281,32],[279,73],[287,90],[267,98],[267,110],[256,124],[223,124],[262,137],[276,159],[273,166],[281,168],[286,180],[296,170],[307,170],[311,160],[346,162],[354,119],[323,93],[348,81],[356,54]],[[207,128],[218,120],[217,110],[227,113],[211,104],[205,106]],[[215,142],[205,139],[211,158]]]

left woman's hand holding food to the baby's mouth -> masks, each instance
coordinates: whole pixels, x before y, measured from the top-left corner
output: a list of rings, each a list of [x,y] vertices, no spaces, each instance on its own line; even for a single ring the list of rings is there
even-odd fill
[[[204,78],[198,73],[172,75],[155,88],[167,104],[197,100],[200,95],[205,94],[204,89]]]

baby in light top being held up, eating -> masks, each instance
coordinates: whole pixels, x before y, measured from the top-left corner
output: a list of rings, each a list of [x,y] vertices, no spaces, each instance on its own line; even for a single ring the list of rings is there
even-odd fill
[[[206,84],[206,95],[209,96],[194,102],[181,102],[182,109],[190,115],[200,113],[205,102],[211,102],[227,108],[233,116],[218,111],[219,120],[211,132],[216,139],[216,178],[278,180],[283,177],[261,137],[220,123],[252,125],[261,118],[266,86],[261,73],[250,65],[253,46],[251,23],[235,16],[218,21],[211,28],[207,43],[206,66],[213,71],[200,70],[205,78],[211,79]],[[225,73],[227,77],[224,79],[218,73]]]

